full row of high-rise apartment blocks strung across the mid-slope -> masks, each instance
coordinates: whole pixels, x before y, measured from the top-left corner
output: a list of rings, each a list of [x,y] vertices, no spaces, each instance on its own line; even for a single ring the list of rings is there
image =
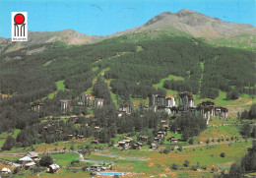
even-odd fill
[[[102,107],[104,104],[103,98],[96,98],[92,93],[82,92],[80,96],[79,105],[87,107]],[[210,116],[216,116],[220,118],[227,118],[227,109],[221,106],[216,106],[213,101],[203,101],[197,106],[194,105],[194,99],[192,92],[180,92],[178,94],[178,105],[176,105],[175,98],[173,96],[163,96],[160,94],[153,94],[150,97],[150,107],[155,111],[165,110],[168,114],[177,114],[179,112],[190,111],[194,114],[201,114],[205,118],[210,119]],[[36,101],[32,103],[32,110],[39,111],[43,103]],[[61,110],[67,112],[71,106],[71,100],[62,99],[60,100]],[[117,110],[118,116],[122,114],[130,114],[132,107],[129,104],[122,104]]]

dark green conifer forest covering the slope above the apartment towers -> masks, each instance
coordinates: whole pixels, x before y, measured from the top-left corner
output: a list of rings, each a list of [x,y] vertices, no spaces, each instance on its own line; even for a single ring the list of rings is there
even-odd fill
[[[78,94],[91,88],[94,75],[105,68],[109,68],[104,77],[111,80],[112,91],[133,97],[145,98],[156,92],[153,85],[169,75],[183,77],[185,81],[166,82],[167,89],[193,93],[199,92],[203,75],[202,97],[215,98],[219,89],[230,91],[231,87],[240,93],[249,92],[248,88],[255,86],[255,53],[213,47],[196,38],[126,43],[108,39],[92,45],[70,47],[48,43],[44,47],[47,50],[31,55],[28,51],[32,48],[1,55],[2,93],[33,95],[34,92],[32,101],[54,90],[56,81],[65,80],[66,88]]]

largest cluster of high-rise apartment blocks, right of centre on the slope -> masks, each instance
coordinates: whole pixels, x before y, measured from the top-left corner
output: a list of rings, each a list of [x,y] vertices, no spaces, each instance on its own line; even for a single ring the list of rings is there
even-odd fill
[[[224,107],[216,106],[213,101],[203,101],[195,106],[192,92],[180,92],[178,94],[178,101],[179,104],[176,105],[175,98],[172,96],[165,97],[153,94],[150,97],[150,107],[153,107],[155,111],[165,110],[168,114],[190,111],[194,114],[202,114],[208,119],[210,119],[210,116],[227,118],[228,110]]]

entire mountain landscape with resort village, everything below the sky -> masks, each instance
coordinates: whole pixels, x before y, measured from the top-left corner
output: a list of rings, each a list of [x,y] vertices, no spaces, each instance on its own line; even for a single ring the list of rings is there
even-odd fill
[[[255,27],[29,37],[0,38],[0,177],[256,177]]]

